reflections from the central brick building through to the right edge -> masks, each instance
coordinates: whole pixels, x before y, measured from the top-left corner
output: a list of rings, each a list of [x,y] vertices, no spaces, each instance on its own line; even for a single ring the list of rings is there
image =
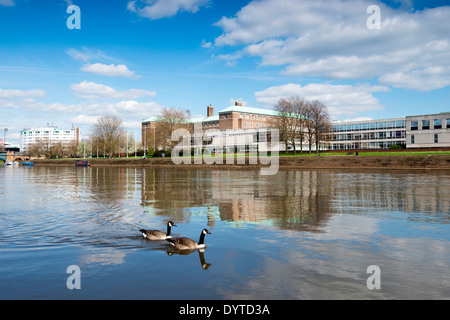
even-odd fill
[[[210,227],[220,219],[320,232],[333,214],[379,211],[427,214],[408,219],[449,218],[448,176],[438,172],[286,170],[261,176],[246,170],[144,169],[142,174],[143,206],[182,220],[206,210]]]

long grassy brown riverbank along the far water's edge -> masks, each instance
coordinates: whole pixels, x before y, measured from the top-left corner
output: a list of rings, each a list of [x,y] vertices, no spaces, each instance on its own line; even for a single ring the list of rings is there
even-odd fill
[[[259,159],[259,158],[258,158]],[[35,166],[74,166],[75,160],[33,160]],[[192,168],[258,168],[262,165],[245,164],[181,164],[175,165],[171,158],[151,159],[89,159],[91,167],[192,167]],[[194,161],[192,160],[192,163]],[[269,163],[270,165],[270,163]],[[269,166],[268,165],[268,166]],[[274,164],[272,164],[274,165]],[[450,170],[450,155],[395,155],[395,156],[320,156],[320,157],[280,157],[279,167],[287,169],[444,169]]]

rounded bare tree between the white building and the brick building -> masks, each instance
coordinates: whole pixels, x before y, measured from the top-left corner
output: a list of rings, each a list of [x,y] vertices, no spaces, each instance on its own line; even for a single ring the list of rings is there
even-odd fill
[[[100,147],[103,154],[113,157],[120,151],[120,146],[126,144],[126,132],[122,128],[122,120],[111,115],[98,118],[92,128],[91,139],[95,141],[96,147]]]

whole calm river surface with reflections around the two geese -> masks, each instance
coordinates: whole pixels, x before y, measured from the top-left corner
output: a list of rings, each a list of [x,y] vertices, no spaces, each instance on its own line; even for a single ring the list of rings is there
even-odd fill
[[[0,299],[449,299],[449,207],[449,172],[0,167]]]

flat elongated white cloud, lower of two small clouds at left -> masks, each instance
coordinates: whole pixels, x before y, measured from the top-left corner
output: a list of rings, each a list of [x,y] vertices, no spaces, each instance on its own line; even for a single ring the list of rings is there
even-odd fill
[[[137,99],[145,96],[156,96],[156,93],[152,91],[141,89],[117,91],[109,86],[88,81],[72,84],[70,90],[82,99]]]

